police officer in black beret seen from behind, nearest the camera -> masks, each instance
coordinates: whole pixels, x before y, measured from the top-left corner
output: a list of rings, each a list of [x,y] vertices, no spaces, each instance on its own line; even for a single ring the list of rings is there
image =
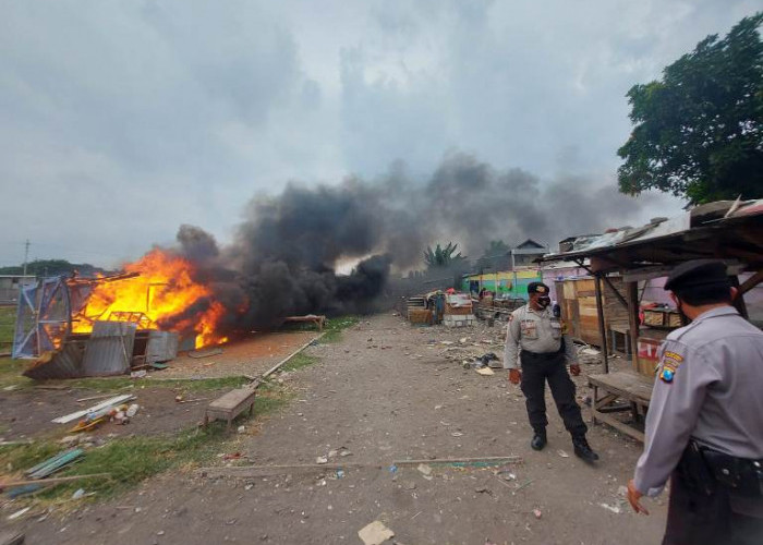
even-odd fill
[[[670,479],[663,544],[763,543],[763,331],[731,306],[723,262],[676,267],[665,289],[691,324],[668,335],[628,483],[637,512]]]

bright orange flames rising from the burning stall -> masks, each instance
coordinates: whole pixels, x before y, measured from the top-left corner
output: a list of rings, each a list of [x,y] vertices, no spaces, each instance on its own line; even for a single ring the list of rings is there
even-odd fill
[[[225,314],[211,290],[193,280],[194,266],[187,259],[154,249],[124,267],[138,276],[100,282],[72,322],[74,332],[89,332],[97,319],[135,322],[138,329],[159,327],[196,332],[196,348],[225,342],[215,330]],[[198,310],[192,306],[198,304]]]

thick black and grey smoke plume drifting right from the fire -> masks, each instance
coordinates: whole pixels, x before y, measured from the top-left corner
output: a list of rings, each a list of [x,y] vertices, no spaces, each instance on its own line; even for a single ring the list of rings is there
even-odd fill
[[[279,195],[252,199],[230,245],[218,246],[193,226],[182,226],[178,241],[229,311],[226,327],[249,330],[289,315],[371,312],[392,271],[423,268],[429,244],[457,242],[471,259],[491,240],[553,247],[569,235],[620,226],[643,205],[614,183],[574,177],[542,183],[520,169],[500,171],[451,154],[423,180],[398,162],[376,180],[290,183]],[[337,275],[348,261],[356,263],[352,272]]]

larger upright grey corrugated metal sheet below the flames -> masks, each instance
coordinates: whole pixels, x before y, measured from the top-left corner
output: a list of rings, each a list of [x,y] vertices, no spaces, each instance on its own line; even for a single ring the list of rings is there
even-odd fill
[[[130,322],[96,322],[85,346],[85,376],[123,375],[130,371],[137,326]]]

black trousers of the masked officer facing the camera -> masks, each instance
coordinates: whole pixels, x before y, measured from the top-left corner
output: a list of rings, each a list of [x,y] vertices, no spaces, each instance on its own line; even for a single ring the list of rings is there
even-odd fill
[[[546,419],[546,380],[552,396],[565,421],[565,427],[573,437],[583,436],[588,426],[580,414],[580,407],[574,400],[574,383],[567,373],[564,352],[554,354],[533,354],[522,352],[522,393],[528,407],[528,416],[533,429],[545,429]]]

